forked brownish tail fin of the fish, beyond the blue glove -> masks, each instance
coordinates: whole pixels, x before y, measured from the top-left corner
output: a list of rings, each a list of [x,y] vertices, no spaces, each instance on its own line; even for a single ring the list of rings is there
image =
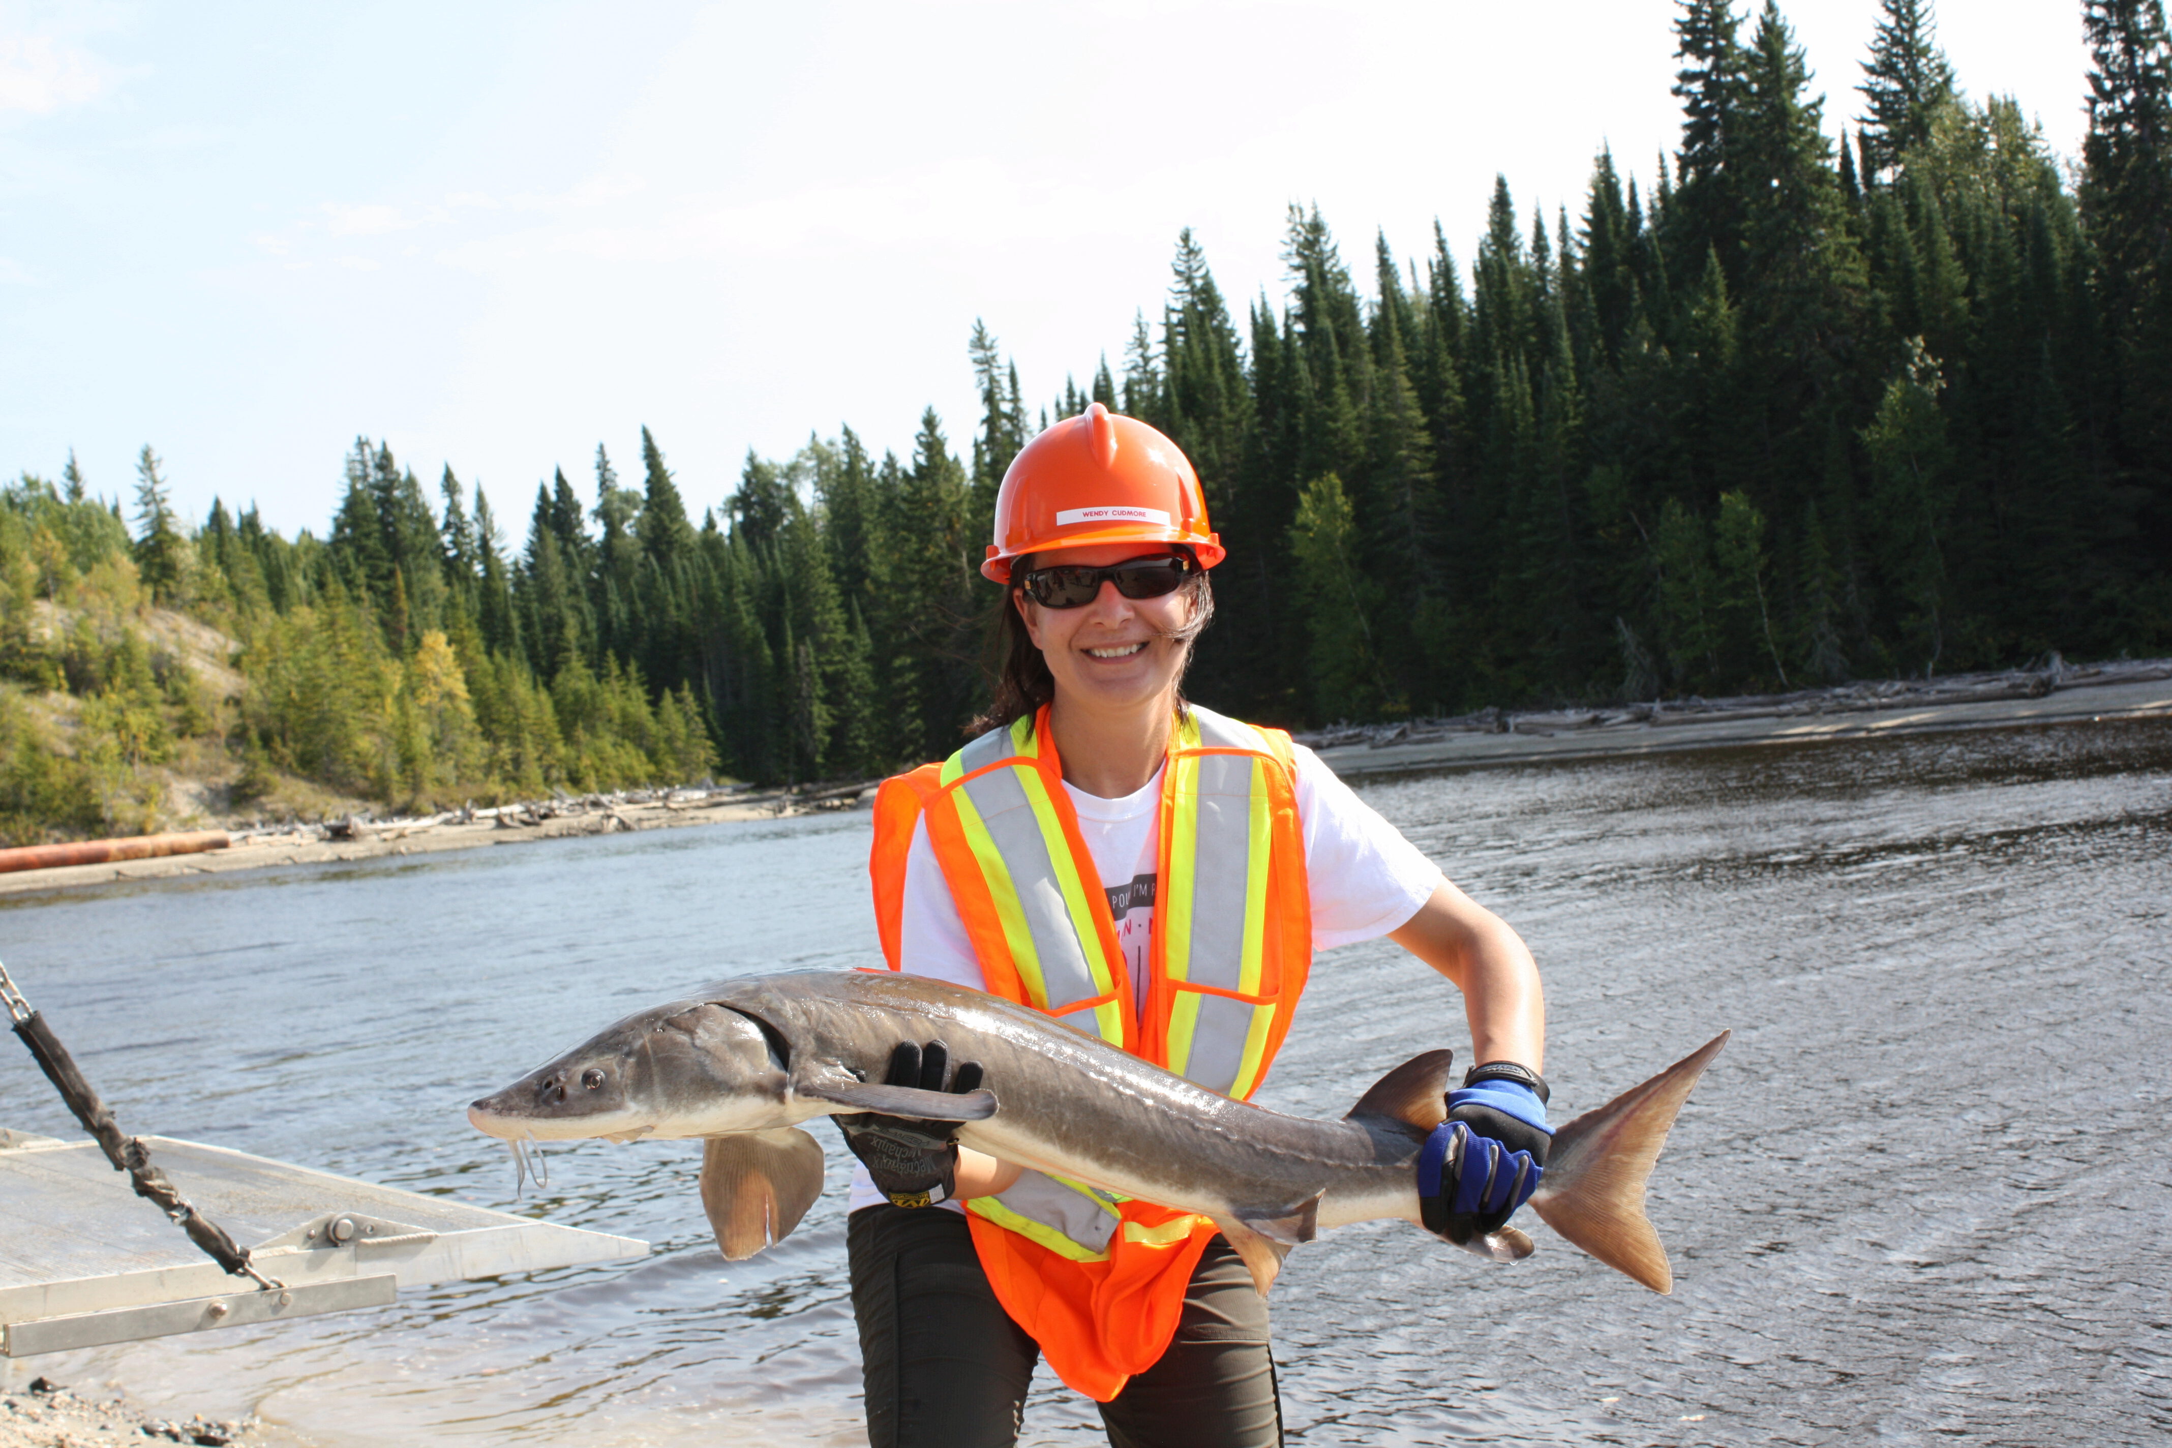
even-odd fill
[[[1675,1114],[1729,1036],[1720,1031],[1651,1081],[1555,1131],[1546,1174],[1531,1194],[1531,1209],[1546,1227],[1653,1292],[1672,1292],[1675,1270],[1644,1216],[1644,1183]]]

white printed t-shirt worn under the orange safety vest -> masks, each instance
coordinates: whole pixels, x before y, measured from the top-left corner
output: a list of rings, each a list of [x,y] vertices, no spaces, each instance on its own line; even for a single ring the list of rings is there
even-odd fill
[[[1192,706],[1199,708],[1199,706]],[[1205,714],[1205,710],[1199,710]],[[1312,949],[1327,951],[1358,940],[1377,940],[1418,914],[1440,886],[1440,866],[1418,853],[1358,799],[1318,755],[1290,747],[1297,766],[1297,823],[1305,836],[1305,881],[1312,892]],[[1156,851],[1160,847],[1162,773],[1138,792],[1101,799],[1064,782],[1079,836],[1093,855],[1101,888],[1116,920],[1116,949],[1132,970],[1134,1005],[1147,983],[1147,931],[1153,925]],[[986,990],[973,940],[951,899],[927,840],[927,818],[912,827],[906,851],[906,899],[899,918],[899,960],[910,975],[932,975],[973,990]],[[851,1174],[851,1211],[882,1201],[867,1168]],[[945,1203],[956,1207],[956,1203]]]

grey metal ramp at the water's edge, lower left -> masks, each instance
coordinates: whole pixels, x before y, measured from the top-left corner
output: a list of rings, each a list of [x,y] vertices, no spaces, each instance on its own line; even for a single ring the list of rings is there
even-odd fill
[[[643,1257],[647,1242],[378,1187],[243,1151],[143,1138],[278,1281],[228,1276],[96,1142],[0,1129],[0,1355],[382,1307],[400,1287]]]

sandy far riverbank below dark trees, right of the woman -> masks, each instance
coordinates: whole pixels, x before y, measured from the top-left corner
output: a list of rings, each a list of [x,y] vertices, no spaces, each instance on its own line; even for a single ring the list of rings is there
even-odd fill
[[[1844,684],[1744,699],[1668,699],[1612,710],[1483,710],[1462,719],[1301,734],[1344,777],[1460,764],[1618,758],[1733,745],[1798,745],[1935,729],[2087,719],[2172,719],[2172,660]]]

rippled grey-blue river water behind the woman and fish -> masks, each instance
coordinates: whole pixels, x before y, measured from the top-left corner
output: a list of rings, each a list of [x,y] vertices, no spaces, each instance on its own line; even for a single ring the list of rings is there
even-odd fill
[[[1735,1038],[1653,1179],[1672,1298],[1536,1222],[1514,1268],[1399,1222],[1336,1231],[1275,1290],[1295,1444],[2172,1435],[2172,727],[1360,790],[1531,942],[1557,1118]],[[326,1448],[864,1444],[832,1131],[799,1233],[725,1263],[695,1148],[563,1148],[517,1198],[460,1107],[682,986],[875,964],[867,829],[815,816],[0,905],[4,960],[126,1127],[656,1246],[30,1366],[182,1413],[254,1409]],[[1262,1101],[1340,1114],[1388,1066],[1466,1042],[1453,992],[1394,947],[1334,951]],[[76,1135],[13,1049],[0,1125]],[[1090,1424],[1043,1372],[1025,1441],[1095,1441]]]

